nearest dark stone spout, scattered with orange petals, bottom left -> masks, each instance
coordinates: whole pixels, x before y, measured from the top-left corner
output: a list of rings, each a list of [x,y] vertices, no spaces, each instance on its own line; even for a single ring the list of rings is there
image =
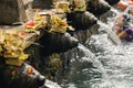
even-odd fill
[[[1,88],[38,88],[45,82],[45,77],[28,64],[0,66],[0,72]]]

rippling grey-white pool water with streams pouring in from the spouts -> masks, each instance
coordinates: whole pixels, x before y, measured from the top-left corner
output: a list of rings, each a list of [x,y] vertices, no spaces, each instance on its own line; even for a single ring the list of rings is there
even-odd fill
[[[108,18],[109,26],[114,16]],[[121,47],[116,41],[120,46],[114,45],[104,26],[89,38],[86,47],[80,45],[73,52],[70,69],[60,82],[63,88],[133,88],[133,44],[123,41]]]

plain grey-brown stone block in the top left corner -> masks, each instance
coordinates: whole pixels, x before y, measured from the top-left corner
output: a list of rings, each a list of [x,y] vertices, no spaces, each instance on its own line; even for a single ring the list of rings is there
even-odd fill
[[[0,0],[0,24],[12,24],[27,20],[21,0]]]

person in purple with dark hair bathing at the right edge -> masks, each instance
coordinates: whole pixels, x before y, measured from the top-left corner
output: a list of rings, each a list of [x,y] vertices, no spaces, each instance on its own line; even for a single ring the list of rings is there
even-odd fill
[[[115,20],[114,32],[121,40],[133,41],[133,6],[129,7],[129,14],[119,14]]]

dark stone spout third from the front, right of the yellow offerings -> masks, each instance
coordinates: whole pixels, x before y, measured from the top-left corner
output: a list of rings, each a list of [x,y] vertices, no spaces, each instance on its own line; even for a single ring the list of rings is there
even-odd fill
[[[88,30],[92,25],[96,24],[95,16],[88,12],[73,11],[66,14],[68,23],[71,24],[75,30]]]

